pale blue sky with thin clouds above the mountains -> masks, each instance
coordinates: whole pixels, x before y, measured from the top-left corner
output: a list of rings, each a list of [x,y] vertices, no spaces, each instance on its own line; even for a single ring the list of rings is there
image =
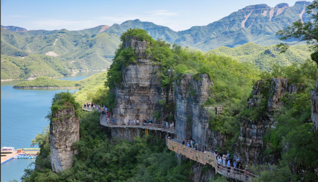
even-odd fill
[[[290,0],[1,0],[1,24],[27,30],[83,30],[98,25],[121,24],[140,19],[168,26],[174,31],[202,26],[228,16],[252,4],[265,3],[274,7],[278,3],[293,6]]]

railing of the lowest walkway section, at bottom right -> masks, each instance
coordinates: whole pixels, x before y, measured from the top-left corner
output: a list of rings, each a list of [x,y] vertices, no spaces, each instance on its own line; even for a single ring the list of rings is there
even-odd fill
[[[234,169],[233,173],[231,173],[231,168]],[[228,172],[228,171],[230,171],[230,172]],[[230,177],[230,178],[235,178],[235,179],[239,179],[239,180],[252,181],[252,178],[256,177],[256,175],[252,174],[251,172],[245,171],[245,170],[241,170],[239,168],[230,167],[230,169],[227,169],[227,166],[226,165],[224,166],[221,163],[218,163],[218,173],[220,173],[222,175],[225,175],[225,176],[229,176],[228,174],[233,174],[233,177]]]

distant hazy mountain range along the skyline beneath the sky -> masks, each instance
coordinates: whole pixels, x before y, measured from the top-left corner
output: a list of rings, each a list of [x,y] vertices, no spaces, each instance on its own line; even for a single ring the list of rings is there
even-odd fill
[[[221,46],[235,48],[248,42],[270,46],[282,42],[275,36],[278,30],[298,19],[309,20],[305,8],[310,3],[298,1],[294,6],[280,3],[273,8],[266,4],[250,5],[206,26],[193,26],[179,32],[139,19],[79,31],[28,31],[17,26],[1,25],[1,54],[22,58],[31,54],[49,55],[78,69],[104,69],[111,64],[121,33],[136,27],[147,30],[155,39],[164,39],[169,43],[201,51]]]

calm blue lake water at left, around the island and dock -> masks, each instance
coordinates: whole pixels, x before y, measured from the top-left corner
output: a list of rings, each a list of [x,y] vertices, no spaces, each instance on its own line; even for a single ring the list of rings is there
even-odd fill
[[[79,72],[75,76],[56,78],[77,81],[102,71]],[[45,119],[54,94],[67,89],[14,89],[24,80],[1,82],[1,147],[30,148],[31,140],[50,123]],[[69,89],[74,92],[78,89]],[[38,147],[38,146],[34,146]],[[20,178],[34,159],[12,159],[1,164],[1,182]]]

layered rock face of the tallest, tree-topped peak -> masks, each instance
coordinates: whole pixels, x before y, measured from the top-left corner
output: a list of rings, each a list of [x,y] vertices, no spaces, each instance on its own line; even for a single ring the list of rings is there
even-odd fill
[[[150,62],[151,55],[144,53],[147,46],[151,47],[149,42],[138,41],[135,37],[123,43],[123,49],[135,49],[137,58],[136,63],[123,67],[123,83],[112,89],[117,101],[113,117],[117,122],[127,123],[128,119],[136,118],[151,119],[151,112],[159,108],[157,100],[161,98],[162,90],[155,74],[158,66]]]

